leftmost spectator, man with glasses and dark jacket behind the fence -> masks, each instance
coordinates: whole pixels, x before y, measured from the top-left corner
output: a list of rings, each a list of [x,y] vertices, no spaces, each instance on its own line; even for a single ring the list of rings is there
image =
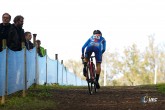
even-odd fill
[[[8,13],[2,15],[2,23],[0,23],[0,52],[2,51],[2,40],[8,38],[8,33],[10,29],[11,16]]]

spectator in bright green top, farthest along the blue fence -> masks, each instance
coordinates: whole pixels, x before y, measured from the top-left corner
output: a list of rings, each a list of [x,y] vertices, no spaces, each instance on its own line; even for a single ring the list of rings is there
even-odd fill
[[[37,48],[37,53],[40,57],[45,56],[46,52],[45,49],[43,47],[41,47],[41,41],[40,40],[36,40],[36,48]]]

